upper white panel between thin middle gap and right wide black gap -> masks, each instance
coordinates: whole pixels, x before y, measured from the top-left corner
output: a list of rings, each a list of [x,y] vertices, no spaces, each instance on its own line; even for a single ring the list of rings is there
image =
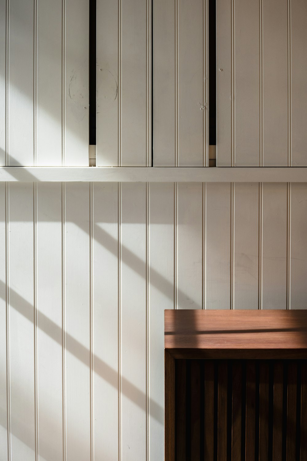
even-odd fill
[[[207,1],[155,2],[155,166],[209,166],[207,24]]]

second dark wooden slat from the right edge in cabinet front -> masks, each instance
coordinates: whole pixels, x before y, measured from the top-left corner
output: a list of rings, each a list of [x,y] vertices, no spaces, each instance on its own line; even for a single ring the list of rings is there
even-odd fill
[[[296,378],[297,378],[296,362],[290,361],[288,365],[287,461],[296,460],[296,456],[295,456]],[[304,411],[306,411],[306,408]]]

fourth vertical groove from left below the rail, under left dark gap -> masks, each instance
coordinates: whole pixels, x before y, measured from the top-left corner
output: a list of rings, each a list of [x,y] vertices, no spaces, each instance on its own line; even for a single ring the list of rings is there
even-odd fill
[[[94,202],[94,186],[90,183],[90,203],[89,203],[89,214],[90,214],[90,461],[94,460],[94,337],[93,337],[93,323],[94,323],[94,304],[93,304],[93,226],[94,226],[94,215],[93,215],[93,202]]]

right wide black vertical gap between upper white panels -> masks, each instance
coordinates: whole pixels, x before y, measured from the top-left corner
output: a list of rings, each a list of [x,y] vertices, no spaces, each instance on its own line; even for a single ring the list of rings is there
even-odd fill
[[[216,0],[209,0],[209,144],[216,144]]]

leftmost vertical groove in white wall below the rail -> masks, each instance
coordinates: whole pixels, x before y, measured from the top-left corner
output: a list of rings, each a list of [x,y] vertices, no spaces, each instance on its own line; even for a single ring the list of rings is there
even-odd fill
[[[11,461],[11,355],[10,355],[10,220],[9,183],[6,183],[6,427],[7,459]]]

